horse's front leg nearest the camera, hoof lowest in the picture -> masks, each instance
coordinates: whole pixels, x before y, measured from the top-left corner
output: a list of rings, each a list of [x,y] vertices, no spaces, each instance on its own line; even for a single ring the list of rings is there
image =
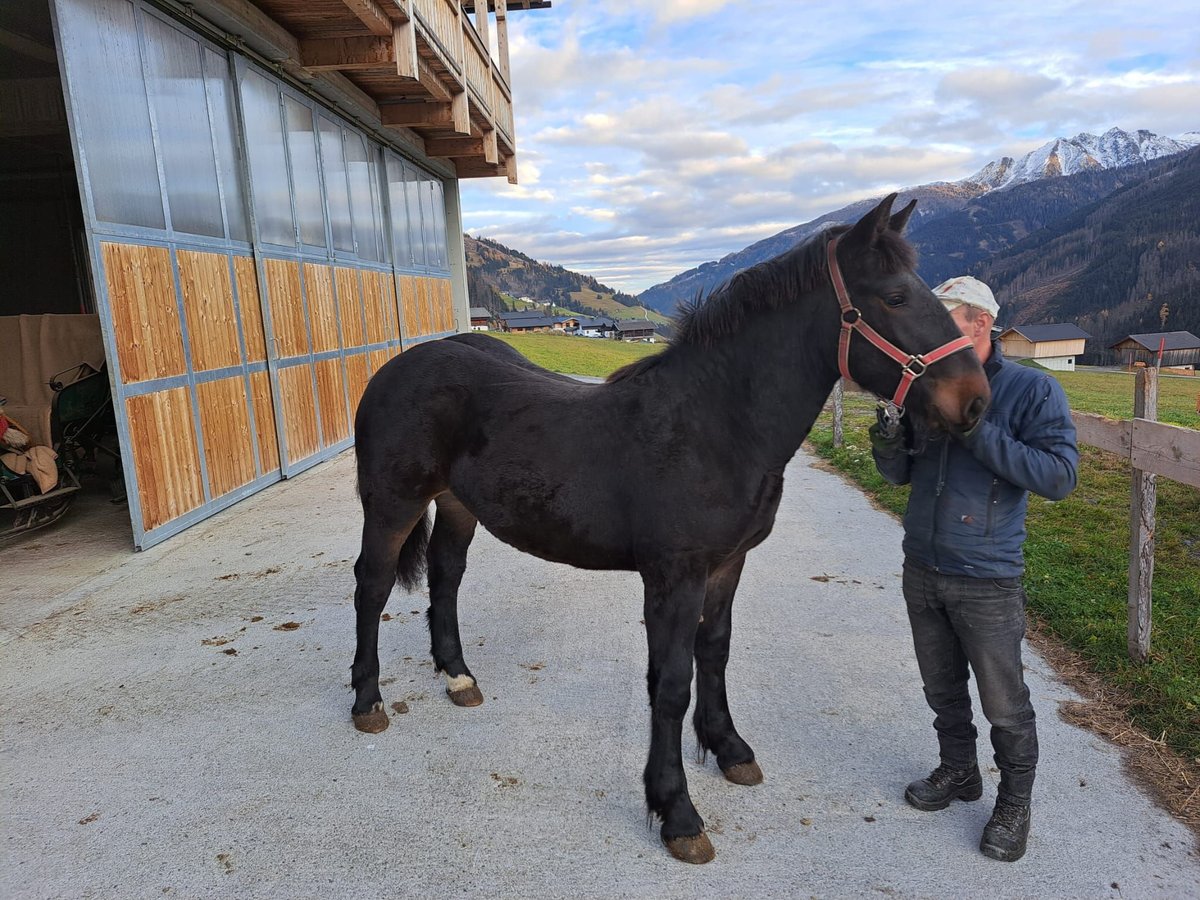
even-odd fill
[[[685,863],[707,863],[715,856],[704,834],[704,820],[688,796],[680,746],[683,718],[691,700],[691,659],[706,576],[703,568],[679,562],[642,570],[650,690],[646,803],[662,820],[662,842]]]

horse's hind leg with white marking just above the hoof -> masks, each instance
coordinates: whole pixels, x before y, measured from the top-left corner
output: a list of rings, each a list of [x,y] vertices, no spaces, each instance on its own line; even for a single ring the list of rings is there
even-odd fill
[[[467,571],[467,548],[476,520],[450,492],[437,498],[438,515],[430,539],[430,642],[433,664],[446,677],[446,694],[457,706],[484,702],[475,677],[462,658],[458,636],[458,584]]]

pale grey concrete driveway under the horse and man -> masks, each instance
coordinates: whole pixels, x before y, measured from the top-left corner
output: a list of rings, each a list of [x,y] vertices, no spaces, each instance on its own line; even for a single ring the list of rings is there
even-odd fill
[[[461,618],[485,704],[449,702],[426,599],[395,594],[384,695],[407,712],[353,730],[348,452],[144,553],[124,551],[119,517],[84,559],[62,532],[2,552],[0,895],[1200,896],[1190,833],[1056,715],[1076,697],[1032,653],[1027,857],[977,850],[995,770],[979,803],[905,805],[936,758],[900,528],[811,463],[788,469],[734,606],[731,704],[766,782],[692,761],[685,728],[709,865],[674,862],[646,826],[635,575],[481,533]]]

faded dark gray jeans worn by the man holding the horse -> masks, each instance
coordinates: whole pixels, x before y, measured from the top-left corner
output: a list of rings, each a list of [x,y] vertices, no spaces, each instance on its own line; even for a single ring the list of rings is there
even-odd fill
[[[991,724],[1000,796],[1028,803],[1038,764],[1038,732],[1021,666],[1021,580],[942,575],[906,559],[904,599],[925,700],[935,713],[942,762],[954,768],[976,764],[978,732],[971,721],[967,692],[970,664],[983,714]]]

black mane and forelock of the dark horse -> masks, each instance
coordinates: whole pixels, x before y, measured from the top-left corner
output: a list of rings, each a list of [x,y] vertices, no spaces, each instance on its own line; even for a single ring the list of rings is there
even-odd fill
[[[850,226],[826,228],[786,253],[744,269],[710,290],[707,296],[697,294],[695,300],[682,305],[671,346],[712,347],[718,338],[740,331],[748,317],[776,310],[828,283],[826,245],[832,238],[847,230]],[[884,230],[875,250],[880,266],[889,275],[912,269],[917,264],[916,250],[899,232]],[[608,376],[608,382],[641,374],[656,366],[670,353],[671,347],[618,368]]]

